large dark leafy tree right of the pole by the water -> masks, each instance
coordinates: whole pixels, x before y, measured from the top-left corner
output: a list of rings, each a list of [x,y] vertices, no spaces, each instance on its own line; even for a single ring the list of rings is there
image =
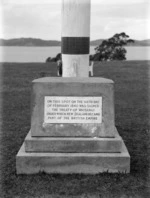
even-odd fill
[[[134,40],[129,39],[124,32],[115,34],[95,48],[96,53],[92,55],[92,59],[95,61],[126,60],[127,51],[123,46],[133,42]]]

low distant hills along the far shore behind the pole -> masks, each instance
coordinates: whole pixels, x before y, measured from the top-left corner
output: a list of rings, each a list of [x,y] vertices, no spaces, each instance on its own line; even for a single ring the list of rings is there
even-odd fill
[[[90,42],[91,46],[97,46],[102,43],[104,39],[98,39]],[[61,41],[55,40],[42,40],[36,38],[15,38],[15,39],[0,39],[0,46],[37,46],[37,47],[46,47],[46,46],[60,46]],[[135,40],[134,43],[131,43],[129,46],[150,46],[150,39],[147,40]]]

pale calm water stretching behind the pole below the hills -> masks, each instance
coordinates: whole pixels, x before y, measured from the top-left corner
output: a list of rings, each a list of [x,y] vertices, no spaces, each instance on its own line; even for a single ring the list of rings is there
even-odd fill
[[[90,47],[94,53],[95,47]],[[150,47],[126,47],[127,60],[150,60]],[[47,57],[55,57],[60,47],[2,47],[0,62],[45,62]]]

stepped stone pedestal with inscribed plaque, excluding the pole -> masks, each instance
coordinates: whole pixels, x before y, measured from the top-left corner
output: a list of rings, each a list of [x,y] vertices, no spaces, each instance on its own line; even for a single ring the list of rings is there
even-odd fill
[[[130,172],[115,128],[112,80],[37,79],[31,107],[31,130],[16,156],[18,174]]]

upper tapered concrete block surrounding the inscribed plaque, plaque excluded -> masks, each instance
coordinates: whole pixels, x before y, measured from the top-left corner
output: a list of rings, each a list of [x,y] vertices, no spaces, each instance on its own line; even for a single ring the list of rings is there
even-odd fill
[[[33,81],[32,136],[114,137],[114,83],[105,78],[46,77]],[[101,96],[102,123],[45,124],[45,96]]]

